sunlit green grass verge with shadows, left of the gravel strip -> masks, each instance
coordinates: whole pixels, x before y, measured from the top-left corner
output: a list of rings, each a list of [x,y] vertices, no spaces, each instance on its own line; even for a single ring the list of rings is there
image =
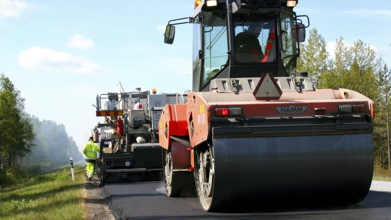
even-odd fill
[[[85,169],[62,169],[0,188],[0,219],[85,219]]]

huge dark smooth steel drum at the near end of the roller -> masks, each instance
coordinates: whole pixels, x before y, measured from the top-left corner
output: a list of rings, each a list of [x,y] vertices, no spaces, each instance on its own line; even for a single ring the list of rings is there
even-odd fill
[[[283,137],[213,137],[211,171],[198,187],[205,210],[281,201],[357,203],[373,174],[370,133]],[[210,154],[210,153],[209,153]],[[195,154],[195,160],[206,155]],[[198,158],[198,159],[197,159]],[[196,163],[200,181],[202,166]],[[206,178],[205,178],[206,179]],[[205,180],[201,180],[205,182]],[[204,192],[203,192],[204,191]],[[208,194],[209,193],[209,194]]]

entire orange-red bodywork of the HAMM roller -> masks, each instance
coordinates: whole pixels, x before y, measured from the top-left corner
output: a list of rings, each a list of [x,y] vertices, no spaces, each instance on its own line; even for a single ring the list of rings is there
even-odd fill
[[[346,97],[349,94],[349,97]],[[234,101],[232,101],[234,100]],[[294,100],[294,101],[293,101]],[[341,114],[340,106],[357,106],[360,111],[351,112],[349,114],[357,114],[367,117],[374,116],[374,102],[365,96],[346,89],[323,89],[311,92],[284,92],[279,100],[274,101],[258,101],[252,93],[219,94],[216,92],[209,93],[188,93],[188,100],[186,104],[166,105],[163,110],[162,117],[159,121],[160,143],[163,148],[169,149],[171,142],[170,136],[183,136],[189,138],[189,146],[181,145],[176,148],[183,148],[193,150],[198,145],[206,142],[211,138],[211,119],[227,119],[232,116],[216,116],[215,109],[217,108],[236,108],[242,109],[240,117],[243,118],[273,118],[273,117],[322,117],[322,116],[337,116]],[[287,108],[288,107],[288,108]],[[280,113],[278,108],[286,108],[288,112]],[[303,112],[297,112],[298,110]],[[303,110],[304,109],[304,110]],[[296,112],[295,112],[296,111]],[[186,115],[185,115],[186,112]],[[234,116],[236,117],[236,116]],[[240,126],[240,125],[239,125]],[[254,136],[255,130],[240,131],[236,130],[236,134],[229,134],[234,136]],[[359,132],[371,132],[372,126],[367,124],[365,129]],[[302,130],[295,131],[292,129],[290,133],[286,130],[276,133],[275,130],[263,132],[263,135],[273,136],[287,136],[287,135],[302,135]],[[307,131],[311,135],[322,133],[333,134],[341,133],[341,131]],[[345,133],[357,132],[355,130],[345,131]],[[259,134],[258,134],[259,135]],[[179,144],[180,145],[180,144]],[[178,157],[184,157],[184,154]],[[189,157],[182,160],[182,168],[188,165],[188,161],[192,161],[188,170],[194,168],[193,154],[187,154]]]

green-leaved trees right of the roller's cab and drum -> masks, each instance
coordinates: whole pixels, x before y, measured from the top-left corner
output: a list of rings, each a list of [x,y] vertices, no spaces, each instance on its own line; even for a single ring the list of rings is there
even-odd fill
[[[316,28],[300,44],[298,72],[308,72],[316,88],[345,88],[359,92],[375,102],[373,131],[375,164],[391,172],[390,97],[391,70],[367,43],[357,40],[348,45],[343,37],[335,42],[332,57],[326,41]]]

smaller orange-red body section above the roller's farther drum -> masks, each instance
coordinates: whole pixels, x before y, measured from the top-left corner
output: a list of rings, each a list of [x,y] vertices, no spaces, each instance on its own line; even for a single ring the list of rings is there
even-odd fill
[[[186,104],[166,105],[159,119],[159,143],[170,148],[170,136],[187,136]]]

